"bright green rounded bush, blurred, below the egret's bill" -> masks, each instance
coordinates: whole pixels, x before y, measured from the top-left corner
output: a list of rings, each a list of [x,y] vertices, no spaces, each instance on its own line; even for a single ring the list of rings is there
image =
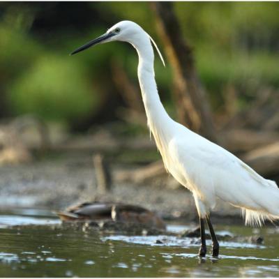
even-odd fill
[[[16,114],[34,112],[51,120],[82,118],[98,105],[84,66],[67,56],[40,57],[8,91]]]

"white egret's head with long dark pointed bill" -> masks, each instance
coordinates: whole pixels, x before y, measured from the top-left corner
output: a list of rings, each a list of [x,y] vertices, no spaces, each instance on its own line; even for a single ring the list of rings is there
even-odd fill
[[[124,20],[122,22],[114,24],[114,26],[108,29],[107,32],[102,36],[91,40],[89,43],[82,45],[82,47],[77,48],[77,50],[73,51],[71,55],[76,54],[77,52],[82,52],[82,50],[86,50],[93,45],[108,43],[114,40],[121,40],[124,42],[133,43],[134,40],[137,40],[137,38],[142,36],[144,33],[145,32],[142,27],[137,25],[135,22]]]

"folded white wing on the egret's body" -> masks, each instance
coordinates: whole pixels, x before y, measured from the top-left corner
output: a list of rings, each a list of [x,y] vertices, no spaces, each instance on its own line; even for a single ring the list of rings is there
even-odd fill
[[[187,187],[209,206],[215,205],[217,196],[235,206],[259,208],[261,195],[277,188],[275,182],[264,179],[221,146],[195,133],[187,131],[184,140],[179,134],[172,143],[172,153],[183,169]]]

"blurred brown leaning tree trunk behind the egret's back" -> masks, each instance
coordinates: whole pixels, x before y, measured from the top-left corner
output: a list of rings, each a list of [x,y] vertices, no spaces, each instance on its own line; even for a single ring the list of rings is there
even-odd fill
[[[151,2],[156,12],[158,32],[174,72],[174,98],[179,121],[191,130],[216,142],[209,103],[195,70],[193,54],[170,2]]]

